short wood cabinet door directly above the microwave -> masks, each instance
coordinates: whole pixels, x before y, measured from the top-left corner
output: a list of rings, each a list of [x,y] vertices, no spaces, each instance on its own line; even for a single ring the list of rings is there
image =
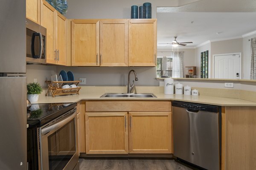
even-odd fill
[[[40,0],[26,0],[26,17],[40,24]]]

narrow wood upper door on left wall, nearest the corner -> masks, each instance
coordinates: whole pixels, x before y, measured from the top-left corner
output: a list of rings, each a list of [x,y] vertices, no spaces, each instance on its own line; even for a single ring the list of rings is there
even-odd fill
[[[66,65],[67,57],[66,57],[66,18],[56,11],[57,19],[56,19],[56,50],[57,59],[56,63],[58,65]]]

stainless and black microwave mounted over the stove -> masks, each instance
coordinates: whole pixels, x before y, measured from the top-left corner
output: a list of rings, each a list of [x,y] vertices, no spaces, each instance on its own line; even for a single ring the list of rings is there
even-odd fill
[[[46,64],[46,28],[27,18],[26,62]]]

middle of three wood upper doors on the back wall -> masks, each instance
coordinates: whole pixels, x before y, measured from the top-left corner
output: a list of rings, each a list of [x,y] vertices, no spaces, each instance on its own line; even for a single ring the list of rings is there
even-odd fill
[[[128,20],[101,20],[99,49],[101,66],[128,66]]]

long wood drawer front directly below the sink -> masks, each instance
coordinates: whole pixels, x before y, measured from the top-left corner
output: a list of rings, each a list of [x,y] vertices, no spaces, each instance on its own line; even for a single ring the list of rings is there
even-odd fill
[[[171,101],[87,101],[86,111],[172,111]]]

